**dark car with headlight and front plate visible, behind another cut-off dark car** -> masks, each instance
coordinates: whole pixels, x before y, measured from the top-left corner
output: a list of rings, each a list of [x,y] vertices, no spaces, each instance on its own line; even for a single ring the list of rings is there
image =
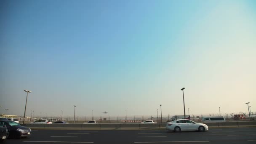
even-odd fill
[[[0,120],[0,126],[3,126],[9,131],[9,138],[21,138],[21,137],[30,137],[31,129],[25,126],[20,125],[19,123]]]

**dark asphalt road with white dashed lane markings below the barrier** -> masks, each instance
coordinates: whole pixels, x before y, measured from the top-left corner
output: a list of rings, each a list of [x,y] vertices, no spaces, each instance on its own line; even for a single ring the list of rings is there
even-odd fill
[[[159,130],[43,130],[4,144],[256,144],[256,127],[211,128],[207,132]]]

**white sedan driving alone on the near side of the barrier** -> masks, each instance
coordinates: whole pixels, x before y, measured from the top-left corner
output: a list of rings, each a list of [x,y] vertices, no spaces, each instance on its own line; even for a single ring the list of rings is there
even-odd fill
[[[169,131],[208,131],[208,126],[203,123],[195,123],[192,120],[174,120],[166,124]]]

